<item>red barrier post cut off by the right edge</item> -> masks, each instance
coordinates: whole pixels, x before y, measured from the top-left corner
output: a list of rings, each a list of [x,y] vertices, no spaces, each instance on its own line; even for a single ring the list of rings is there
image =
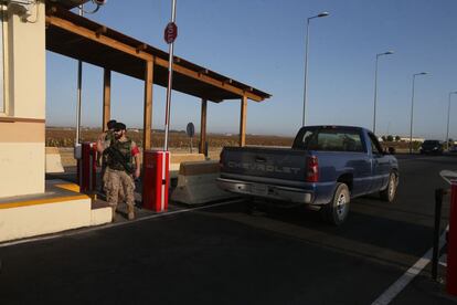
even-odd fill
[[[451,181],[446,291],[457,295],[457,181]]]

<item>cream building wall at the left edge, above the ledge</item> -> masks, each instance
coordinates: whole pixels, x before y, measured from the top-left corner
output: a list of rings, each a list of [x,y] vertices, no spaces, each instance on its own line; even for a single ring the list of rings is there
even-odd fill
[[[0,114],[0,198],[44,192],[45,15],[28,21],[9,6],[4,21],[4,102]]]

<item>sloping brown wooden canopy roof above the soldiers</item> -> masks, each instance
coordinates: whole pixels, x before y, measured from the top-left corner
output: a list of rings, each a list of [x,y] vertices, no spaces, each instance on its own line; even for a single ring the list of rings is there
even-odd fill
[[[146,63],[153,62],[153,83],[168,85],[169,54],[145,42],[77,15],[71,2],[46,1],[46,50],[81,60],[138,80],[145,80]],[[262,102],[270,97],[249,85],[173,57],[173,90],[212,102],[246,96]]]

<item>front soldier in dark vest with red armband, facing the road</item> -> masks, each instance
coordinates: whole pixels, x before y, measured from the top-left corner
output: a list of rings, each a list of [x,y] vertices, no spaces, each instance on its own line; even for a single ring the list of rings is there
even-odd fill
[[[140,176],[138,146],[126,136],[126,125],[116,123],[114,128],[115,140],[104,149],[107,155],[107,167],[104,176],[106,200],[113,208],[113,219],[119,200],[119,191],[124,196],[128,207],[128,219],[135,219],[135,180]],[[135,168],[134,168],[135,159]]]

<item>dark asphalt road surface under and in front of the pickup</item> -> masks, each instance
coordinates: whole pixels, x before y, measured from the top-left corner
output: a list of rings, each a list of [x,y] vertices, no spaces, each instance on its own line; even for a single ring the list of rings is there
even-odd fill
[[[355,199],[338,228],[235,202],[0,245],[0,304],[372,304],[431,249],[438,173],[457,170],[451,156],[398,159],[396,202]],[[457,304],[429,277],[391,304]]]

